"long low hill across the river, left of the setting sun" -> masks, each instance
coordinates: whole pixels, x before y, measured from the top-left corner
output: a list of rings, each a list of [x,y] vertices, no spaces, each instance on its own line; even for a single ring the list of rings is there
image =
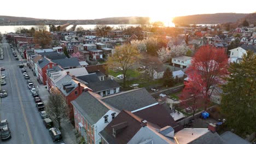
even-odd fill
[[[0,25],[39,25],[44,23],[45,25],[63,25],[65,23],[77,24],[77,25],[118,25],[118,24],[149,24],[149,17],[108,17],[104,19],[95,20],[50,20],[50,19],[34,19],[31,17],[16,17],[16,16],[0,16]]]

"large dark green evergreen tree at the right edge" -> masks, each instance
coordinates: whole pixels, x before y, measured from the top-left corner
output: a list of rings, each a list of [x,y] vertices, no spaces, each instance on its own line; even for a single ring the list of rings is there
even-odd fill
[[[256,55],[248,51],[240,63],[231,63],[223,85],[222,103],[226,123],[235,133],[256,131]]]

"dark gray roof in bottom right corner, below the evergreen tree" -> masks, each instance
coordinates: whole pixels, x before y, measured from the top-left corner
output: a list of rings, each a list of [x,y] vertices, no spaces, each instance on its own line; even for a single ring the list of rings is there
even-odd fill
[[[242,139],[240,136],[232,133],[231,131],[226,131],[220,136],[224,140],[225,144],[249,144],[248,141]]]

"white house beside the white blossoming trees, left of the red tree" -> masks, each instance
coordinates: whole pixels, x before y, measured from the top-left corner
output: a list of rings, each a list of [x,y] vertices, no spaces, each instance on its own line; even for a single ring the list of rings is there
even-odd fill
[[[185,68],[188,68],[189,65],[191,64],[191,59],[192,57],[188,57],[188,56],[174,57],[172,58],[172,65],[174,67],[185,69]]]

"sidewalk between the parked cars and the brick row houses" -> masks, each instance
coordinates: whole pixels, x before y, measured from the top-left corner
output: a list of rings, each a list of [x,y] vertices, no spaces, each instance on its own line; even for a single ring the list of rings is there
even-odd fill
[[[30,80],[34,83],[34,86],[38,88],[39,97],[42,99],[44,103],[47,103],[49,92],[44,85],[39,85],[37,81],[37,77],[33,75],[32,70],[27,68],[27,74],[30,76]],[[63,141],[66,144],[76,144],[77,138],[75,137],[75,129],[70,122],[62,123],[61,124],[61,133],[63,137]]]

